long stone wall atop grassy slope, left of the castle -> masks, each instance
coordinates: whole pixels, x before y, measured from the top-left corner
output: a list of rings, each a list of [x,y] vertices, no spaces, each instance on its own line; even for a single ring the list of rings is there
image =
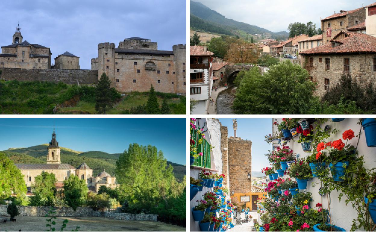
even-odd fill
[[[93,85],[98,82],[98,70],[0,68],[1,80],[64,82],[68,85]]]

